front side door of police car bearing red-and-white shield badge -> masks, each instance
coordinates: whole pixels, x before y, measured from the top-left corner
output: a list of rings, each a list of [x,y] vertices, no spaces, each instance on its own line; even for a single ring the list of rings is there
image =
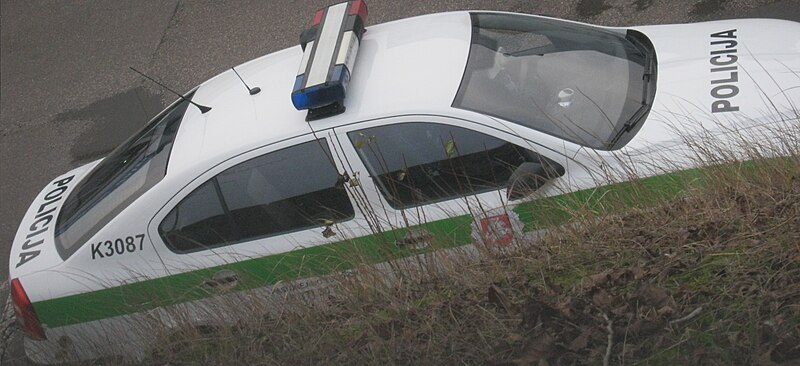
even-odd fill
[[[531,193],[559,192],[554,181],[565,179],[557,176],[568,159],[498,127],[426,115],[352,124],[336,134],[388,241],[427,251],[520,237],[524,223],[513,208],[522,200],[509,200],[507,187],[522,164],[546,161],[559,171]]]

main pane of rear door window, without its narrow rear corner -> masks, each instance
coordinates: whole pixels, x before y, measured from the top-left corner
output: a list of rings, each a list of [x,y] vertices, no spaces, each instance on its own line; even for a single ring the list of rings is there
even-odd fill
[[[325,154],[322,154],[322,151]],[[220,189],[243,238],[276,235],[353,216],[324,140],[279,150],[226,170]]]

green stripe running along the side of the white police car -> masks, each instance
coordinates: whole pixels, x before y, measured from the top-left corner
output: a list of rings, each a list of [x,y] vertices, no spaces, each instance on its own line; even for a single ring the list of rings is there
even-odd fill
[[[699,170],[671,173],[538,199],[514,211],[525,230],[560,225],[576,219],[575,213],[604,215],[626,207],[652,206],[676,197],[687,184],[698,182]],[[203,281],[221,269],[239,275],[236,291],[344,271],[363,263],[379,263],[472,242],[472,217],[462,215],[414,227],[424,228],[433,243],[424,250],[401,248],[397,239],[410,230],[397,229],[332,244],[254,258],[168,277],[34,303],[43,324],[55,328],[110,318],[214,296]]]

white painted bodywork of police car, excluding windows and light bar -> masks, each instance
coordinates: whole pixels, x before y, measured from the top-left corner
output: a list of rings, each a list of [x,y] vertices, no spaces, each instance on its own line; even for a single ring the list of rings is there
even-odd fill
[[[163,299],[158,297],[163,292],[156,289],[158,279],[190,281],[192,273],[218,273],[226,266],[254,258],[331,244],[342,240],[345,233],[354,238],[369,236],[374,224],[380,224],[383,230],[396,230],[468,215],[477,202],[483,207],[513,207],[521,202],[509,202],[503,188],[420,206],[405,213],[392,209],[368,179],[367,168],[348,142],[346,133],[350,131],[424,121],[466,127],[518,146],[529,146],[565,168],[563,176],[537,191],[538,196],[547,197],[596,187],[599,180],[609,179],[602,172],[615,171],[614,165],[621,160],[633,162],[631,166],[636,167],[635,173],[640,177],[690,168],[696,162],[687,153],[687,131],[711,131],[721,136],[719,141],[729,139],[733,143],[736,136],[731,131],[753,128],[763,131],[767,125],[800,123],[797,120],[800,38],[796,37],[800,34],[800,24],[795,22],[743,19],[633,28],[586,25],[638,30],[652,42],[658,60],[656,94],[649,116],[623,148],[604,151],[451,106],[470,52],[469,14],[435,14],[369,26],[345,99],[347,110],[330,118],[306,123],[305,112],[294,109],[290,103],[289,92],[302,57],[299,46],[236,68],[249,85],[262,89],[257,95],[248,95],[231,71],[204,82],[192,100],[212,110],[201,114],[197,108],[188,107],[163,180],[118,213],[89,244],[82,245],[67,260],[54,248],[53,226],[59,206],[98,162],[54,179],[23,218],[10,255],[9,278],[22,283],[47,336],[46,340],[26,339],[28,356],[40,363],[115,354],[139,358],[155,340],[142,339],[139,333],[121,329],[161,321],[169,308],[197,309],[214,301],[189,296],[186,298],[189,302],[160,302]],[[735,41],[735,47],[727,48],[735,53],[714,54],[726,48],[724,44],[713,43],[726,40]],[[736,55],[735,62],[724,65],[735,68],[712,72],[714,67],[723,67],[710,61],[720,55],[728,59],[718,58],[718,63]],[[738,73],[735,80],[731,72]],[[712,95],[712,90],[722,85],[733,85],[737,92],[718,89],[716,96]],[[713,104],[720,101],[725,103],[718,104],[719,108],[735,106],[738,110],[713,112]],[[681,126],[688,120],[692,121],[691,126]],[[324,138],[333,155],[339,156],[335,161],[339,171],[360,178],[369,204],[380,208],[379,220],[356,209],[352,219],[333,226],[342,234],[329,238],[320,234],[324,227],[319,226],[189,253],[177,253],[165,245],[159,235],[159,223],[208,179],[253,157],[315,138]],[[667,159],[672,162],[669,166],[663,164]],[[620,173],[616,179],[626,177]],[[40,214],[55,207],[58,208],[53,212]],[[92,247],[92,243],[117,239],[129,245],[130,241],[126,242],[129,237],[135,239],[135,250],[110,247],[111,255],[98,257],[99,244]],[[106,247],[102,250],[105,253]],[[202,272],[205,269],[211,272]],[[274,283],[265,285],[269,288]],[[115,292],[120,286],[152,290],[156,299],[147,294],[123,299],[130,309],[138,307],[140,311],[104,308],[104,299],[124,296]],[[196,286],[202,286],[202,282]],[[86,296],[92,298],[86,300]],[[158,305],[148,305],[147,299]],[[191,314],[195,321],[203,322],[202,311]]]

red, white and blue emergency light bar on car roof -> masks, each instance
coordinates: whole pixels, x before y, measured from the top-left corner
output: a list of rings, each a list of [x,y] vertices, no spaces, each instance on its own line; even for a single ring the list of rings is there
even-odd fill
[[[344,112],[344,97],[364,34],[367,3],[348,1],[320,9],[300,35],[303,59],[294,81],[292,104],[308,109],[306,121]]]

